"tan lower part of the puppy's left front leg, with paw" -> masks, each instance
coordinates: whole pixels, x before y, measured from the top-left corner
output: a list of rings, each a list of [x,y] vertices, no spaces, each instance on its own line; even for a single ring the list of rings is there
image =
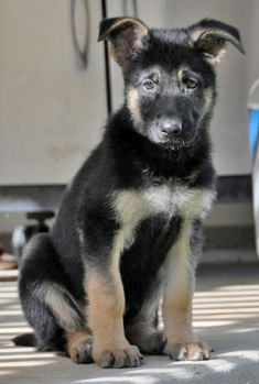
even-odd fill
[[[93,358],[102,367],[140,365],[141,355],[125,337],[125,294],[118,273],[88,271],[88,326],[94,336]]]

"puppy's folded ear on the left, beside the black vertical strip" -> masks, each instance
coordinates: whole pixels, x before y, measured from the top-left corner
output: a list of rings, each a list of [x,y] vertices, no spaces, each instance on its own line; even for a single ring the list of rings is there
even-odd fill
[[[98,41],[107,39],[111,44],[111,55],[126,68],[130,59],[147,48],[149,29],[136,18],[112,18],[100,22]]]

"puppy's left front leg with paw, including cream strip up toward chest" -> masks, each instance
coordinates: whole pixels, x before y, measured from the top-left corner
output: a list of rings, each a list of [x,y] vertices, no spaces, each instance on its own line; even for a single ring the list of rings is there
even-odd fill
[[[120,230],[116,233],[105,246],[104,238],[102,242],[96,239],[101,246],[95,249],[96,256],[85,261],[87,325],[94,336],[95,362],[102,367],[138,366],[142,356],[137,347],[129,344],[123,329],[125,292],[119,264],[125,237]]]

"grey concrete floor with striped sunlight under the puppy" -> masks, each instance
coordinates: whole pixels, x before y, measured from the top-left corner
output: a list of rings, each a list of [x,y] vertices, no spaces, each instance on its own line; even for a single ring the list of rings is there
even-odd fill
[[[0,382],[259,384],[259,264],[212,265],[198,271],[194,325],[215,350],[207,362],[172,362],[145,356],[138,369],[76,365],[53,353],[17,348],[10,339],[29,330],[15,282],[0,282]]]

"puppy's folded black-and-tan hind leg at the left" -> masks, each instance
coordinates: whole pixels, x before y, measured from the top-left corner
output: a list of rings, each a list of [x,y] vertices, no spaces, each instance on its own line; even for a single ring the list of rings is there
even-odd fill
[[[19,292],[39,349],[66,351],[79,363],[91,360],[90,334],[82,308],[66,287],[66,278],[47,234],[34,237],[26,246]],[[87,343],[77,348],[78,343],[83,345],[83,334]]]

